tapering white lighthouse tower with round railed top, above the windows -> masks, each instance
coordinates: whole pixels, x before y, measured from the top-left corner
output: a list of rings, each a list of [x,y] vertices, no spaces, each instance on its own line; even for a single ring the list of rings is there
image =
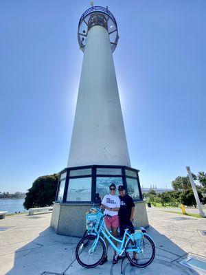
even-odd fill
[[[78,29],[84,58],[68,167],[130,166],[113,63],[113,51],[119,38],[117,23],[105,8],[89,9],[86,18],[85,13]]]

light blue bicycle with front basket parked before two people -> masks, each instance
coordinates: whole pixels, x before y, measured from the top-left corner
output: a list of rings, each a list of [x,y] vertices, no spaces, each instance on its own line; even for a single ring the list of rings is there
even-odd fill
[[[82,267],[92,268],[101,263],[106,255],[106,243],[111,244],[117,252],[117,256],[124,254],[128,261],[136,267],[146,267],[155,258],[155,243],[146,230],[138,228],[135,233],[130,234],[128,228],[124,232],[123,239],[115,238],[108,232],[104,223],[104,214],[98,208],[91,208],[87,213],[87,236],[84,236],[76,247],[76,259]],[[120,244],[117,248],[113,240]],[[135,254],[135,259],[134,259]]]

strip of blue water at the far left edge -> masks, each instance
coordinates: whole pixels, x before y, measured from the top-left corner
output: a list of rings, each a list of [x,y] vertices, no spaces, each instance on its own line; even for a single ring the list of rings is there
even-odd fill
[[[8,211],[8,214],[25,212],[23,208],[24,199],[0,199],[0,211]]]

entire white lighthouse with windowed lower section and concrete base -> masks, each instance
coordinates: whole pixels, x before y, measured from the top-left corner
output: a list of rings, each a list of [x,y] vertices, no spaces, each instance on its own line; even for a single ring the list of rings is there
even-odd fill
[[[113,52],[119,33],[108,8],[92,6],[78,24],[82,71],[67,168],[60,171],[51,226],[82,236],[85,212],[100,204],[108,186],[124,185],[135,201],[135,225],[148,226],[139,170],[132,168],[119,100]],[[118,194],[117,194],[118,195]],[[75,219],[74,219],[75,217]]]

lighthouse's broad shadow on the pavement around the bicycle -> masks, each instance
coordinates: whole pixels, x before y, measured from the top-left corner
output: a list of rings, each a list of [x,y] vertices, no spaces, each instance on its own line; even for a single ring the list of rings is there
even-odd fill
[[[148,228],[148,234],[155,241],[155,260],[148,267],[130,266],[127,259],[123,263],[123,274],[148,275],[192,275],[199,274],[188,267],[179,264],[187,253],[160,234],[155,228]],[[14,266],[6,275],[49,275],[49,274],[108,274],[121,272],[121,261],[117,265],[111,263],[113,251],[108,250],[108,262],[93,269],[81,267],[75,259],[75,250],[79,238],[57,235],[52,228],[47,228],[39,236],[16,250]]]

